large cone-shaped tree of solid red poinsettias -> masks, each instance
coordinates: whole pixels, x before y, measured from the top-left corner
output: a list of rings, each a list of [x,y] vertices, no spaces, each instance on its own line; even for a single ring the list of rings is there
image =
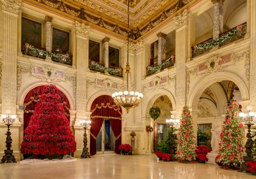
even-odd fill
[[[76,142],[57,91],[53,84],[45,88],[25,129],[21,153],[61,155],[75,152]]]

